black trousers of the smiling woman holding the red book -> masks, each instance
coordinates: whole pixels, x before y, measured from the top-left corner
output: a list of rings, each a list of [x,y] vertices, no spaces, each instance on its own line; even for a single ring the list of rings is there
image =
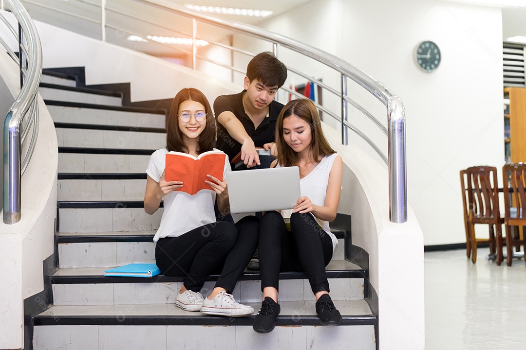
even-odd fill
[[[236,225],[213,222],[179,237],[161,238],[155,248],[157,266],[165,275],[185,277],[185,288],[195,292],[211,273],[221,271],[216,287],[231,293],[256,251],[258,228],[259,219],[248,216]]]

